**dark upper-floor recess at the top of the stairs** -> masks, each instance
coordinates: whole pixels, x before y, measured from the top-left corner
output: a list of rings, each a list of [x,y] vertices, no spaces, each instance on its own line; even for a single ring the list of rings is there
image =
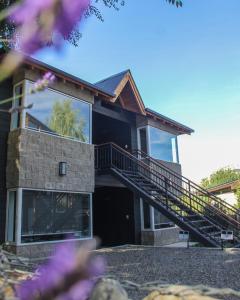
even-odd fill
[[[93,144],[113,142],[118,146],[131,150],[131,127],[105,115],[93,112]]]

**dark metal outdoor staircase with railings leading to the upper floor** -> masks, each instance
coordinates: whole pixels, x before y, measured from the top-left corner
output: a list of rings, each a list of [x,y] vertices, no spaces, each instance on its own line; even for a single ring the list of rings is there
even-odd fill
[[[233,231],[233,245],[240,244],[240,215],[235,207],[145,153],[129,153],[113,143],[95,146],[95,168],[117,177],[202,244],[220,247],[222,230]]]

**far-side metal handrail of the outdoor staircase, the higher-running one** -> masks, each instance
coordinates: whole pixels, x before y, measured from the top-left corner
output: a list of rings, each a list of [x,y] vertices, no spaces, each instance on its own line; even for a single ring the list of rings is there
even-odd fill
[[[195,190],[199,191],[200,193],[203,193],[203,195],[205,195],[208,198],[211,198],[212,200],[216,201],[221,206],[225,206],[225,208],[227,208],[228,210],[232,211],[234,214],[238,215],[239,218],[240,218],[240,213],[239,213],[238,209],[236,209],[234,206],[232,206],[231,204],[227,203],[226,201],[224,201],[224,200],[216,197],[214,194],[212,194],[211,192],[205,190],[203,187],[201,187],[198,184],[194,183],[192,180],[186,178],[183,175],[180,175],[180,174],[174,172],[173,170],[171,170],[170,168],[168,168],[167,166],[165,166],[164,164],[162,164],[158,160],[154,159],[153,157],[149,156],[148,154],[146,154],[142,150],[135,149],[135,150],[132,151],[132,153],[133,154],[137,153],[137,154],[140,154],[140,155],[143,154],[143,158],[144,159],[149,160],[150,162],[152,162],[156,166],[160,167],[161,169],[164,169],[166,172],[170,173],[174,177],[177,177],[181,181],[185,180],[185,183],[189,184],[190,187],[193,187]]]

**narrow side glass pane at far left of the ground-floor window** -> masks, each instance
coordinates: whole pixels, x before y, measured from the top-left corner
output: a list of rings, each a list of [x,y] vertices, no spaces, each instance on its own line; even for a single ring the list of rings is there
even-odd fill
[[[16,200],[17,192],[8,193],[8,210],[7,210],[7,236],[8,242],[15,242],[15,224],[16,224]]]

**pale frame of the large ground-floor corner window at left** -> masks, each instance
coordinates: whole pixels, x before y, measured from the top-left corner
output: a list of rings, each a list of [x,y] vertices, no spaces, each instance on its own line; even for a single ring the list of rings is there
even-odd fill
[[[93,238],[93,209],[92,209],[92,193],[87,192],[72,192],[72,191],[59,191],[59,190],[44,190],[44,189],[33,189],[33,188],[15,188],[9,189],[7,191],[7,210],[6,210],[6,231],[5,231],[5,242],[9,245],[24,246],[24,245],[36,245],[36,244],[54,244],[54,243],[63,243],[69,240],[54,240],[54,241],[43,241],[43,242],[31,242],[31,243],[22,243],[22,204],[23,204],[23,190],[28,191],[38,191],[38,192],[57,192],[57,193],[69,193],[69,194],[82,194],[90,196],[90,236],[86,238],[72,238],[71,241],[84,241],[90,240]],[[16,220],[15,220],[15,242],[9,242],[8,237],[8,207],[9,207],[9,193],[16,192]]]

